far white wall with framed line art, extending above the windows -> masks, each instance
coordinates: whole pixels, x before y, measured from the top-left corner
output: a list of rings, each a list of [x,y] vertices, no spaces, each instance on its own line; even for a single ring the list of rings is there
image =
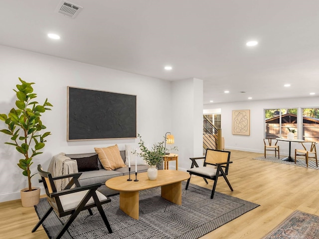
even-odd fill
[[[207,104],[204,109],[221,109],[221,128],[222,135],[225,137],[225,148],[251,152],[264,152],[264,109],[275,108],[318,108],[319,97],[277,99],[267,101],[247,101],[233,102],[224,104]],[[250,110],[250,135],[233,135],[231,130],[232,111]],[[289,144],[279,142],[281,155],[288,155]],[[291,151],[300,146],[292,143]]]

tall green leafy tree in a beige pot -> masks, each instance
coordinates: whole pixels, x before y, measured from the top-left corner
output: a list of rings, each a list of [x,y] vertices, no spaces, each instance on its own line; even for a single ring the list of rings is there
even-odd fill
[[[31,185],[30,166],[32,159],[36,155],[42,153],[41,150],[45,146],[45,138],[50,135],[50,132],[41,133],[46,127],[40,120],[41,114],[52,105],[44,101],[42,105],[33,101],[36,94],[33,93],[32,85],[19,78],[21,85],[16,85],[17,100],[15,101],[16,108],[12,108],[8,114],[0,114],[0,119],[5,122],[7,129],[1,129],[2,133],[10,135],[10,142],[6,144],[12,145],[22,154],[22,158],[18,160],[17,165],[22,169],[22,174],[28,179],[28,187],[21,190],[21,202],[23,207],[31,207],[39,202],[40,189],[33,188]],[[40,132],[41,131],[41,132]]]

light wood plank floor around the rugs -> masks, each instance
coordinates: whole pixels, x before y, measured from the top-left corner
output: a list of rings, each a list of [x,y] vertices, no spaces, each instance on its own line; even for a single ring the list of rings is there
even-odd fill
[[[319,216],[319,170],[252,159],[260,153],[231,151],[228,179],[234,192],[223,179],[216,190],[261,206],[201,239],[260,239],[295,210]],[[212,181],[206,185],[199,177],[192,176],[190,182],[212,187]],[[0,203],[0,219],[0,238],[47,238],[42,226],[31,233],[38,221],[36,213],[33,207],[21,207],[19,200]]]

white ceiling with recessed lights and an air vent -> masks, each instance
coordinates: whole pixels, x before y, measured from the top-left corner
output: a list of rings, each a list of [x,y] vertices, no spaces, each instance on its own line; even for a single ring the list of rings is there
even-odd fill
[[[319,95],[319,0],[71,0],[83,7],[74,19],[55,12],[59,2],[0,0],[0,44],[202,79],[204,104]]]

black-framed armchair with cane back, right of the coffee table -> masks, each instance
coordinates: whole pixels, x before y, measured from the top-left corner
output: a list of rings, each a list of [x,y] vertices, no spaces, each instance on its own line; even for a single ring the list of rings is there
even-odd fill
[[[205,157],[196,157],[196,158],[189,158],[189,159],[192,161],[190,169],[187,170],[187,172],[189,172],[190,174],[190,177],[191,175],[200,176],[204,179],[204,181],[207,184],[208,182],[206,178],[214,180],[214,185],[211,190],[211,196],[210,196],[211,199],[214,197],[217,180],[219,176],[223,176],[230,190],[234,191],[226,177],[226,175],[228,175],[229,164],[232,163],[231,161],[229,161],[230,160],[229,151],[221,151],[221,150],[207,148]],[[202,167],[198,166],[197,162],[195,161],[196,159],[205,159]],[[207,165],[213,165],[215,167],[207,166]],[[186,190],[189,185],[190,177],[186,183],[186,188],[185,188]]]

